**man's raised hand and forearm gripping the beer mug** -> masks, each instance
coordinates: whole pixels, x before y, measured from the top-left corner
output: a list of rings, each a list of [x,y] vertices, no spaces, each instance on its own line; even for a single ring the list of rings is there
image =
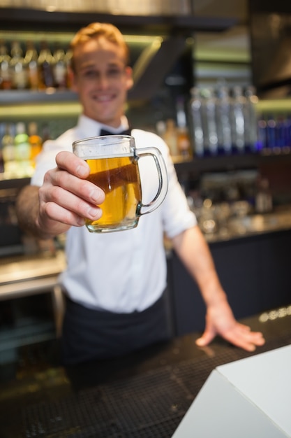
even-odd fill
[[[86,180],[89,166],[70,152],[60,152],[57,167],[47,171],[43,185],[22,189],[16,201],[20,227],[40,239],[50,239],[71,226],[81,227],[84,218],[98,220],[103,190]]]

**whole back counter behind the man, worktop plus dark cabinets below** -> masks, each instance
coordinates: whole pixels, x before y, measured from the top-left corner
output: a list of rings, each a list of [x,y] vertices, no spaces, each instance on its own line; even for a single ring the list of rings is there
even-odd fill
[[[207,239],[236,318],[289,304],[290,206],[265,215],[232,218],[228,230],[227,235],[224,230],[208,234]],[[10,315],[10,322],[0,330],[0,364],[16,356],[22,345],[61,334],[64,299],[58,278],[66,267],[63,247],[61,242],[56,251],[1,258],[1,314]],[[201,331],[205,307],[200,292],[172,248],[166,248],[173,335]]]

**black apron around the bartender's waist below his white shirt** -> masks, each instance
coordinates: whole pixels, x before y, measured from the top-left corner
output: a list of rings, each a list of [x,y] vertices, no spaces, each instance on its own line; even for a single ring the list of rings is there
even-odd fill
[[[142,312],[88,309],[66,297],[61,339],[64,365],[126,355],[172,336],[167,293]]]

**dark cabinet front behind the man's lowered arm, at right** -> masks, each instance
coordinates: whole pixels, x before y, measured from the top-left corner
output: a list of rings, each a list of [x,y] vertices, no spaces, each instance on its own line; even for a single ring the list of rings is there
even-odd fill
[[[211,243],[210,249],[236,318],[291,303],[291,230]],[[200,291],[175,253],[168,263],[175,334],[202,331]]]

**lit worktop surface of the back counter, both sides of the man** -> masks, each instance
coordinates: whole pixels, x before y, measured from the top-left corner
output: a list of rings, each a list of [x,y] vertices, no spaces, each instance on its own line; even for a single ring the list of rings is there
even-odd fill
[[[204,234],[209,243],[220,243],[233,239],[283,232],[291,229],[291,206],[281,206],[272,213],[230,218],[222,232]],[[165,241],[166,250],[172,249]],[[33,295],[41,290],[53,288],[57,278],[66,268],[63,250],[52,256],[42,253],[2,257],[0,263],[0,300]]]

